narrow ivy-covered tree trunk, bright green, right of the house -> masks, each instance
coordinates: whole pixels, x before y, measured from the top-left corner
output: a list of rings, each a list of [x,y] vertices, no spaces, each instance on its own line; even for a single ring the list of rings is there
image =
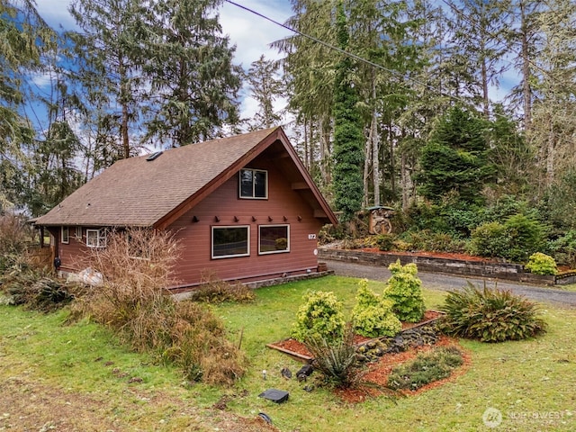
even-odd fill
[[[347,49],[347,18],[342,1],[337,5],[337,31],[340,49]],[[364,136],[358,112],[358,94],[352,79],[352,59],[340,59],[334,92],[334,196],[342,220],[349,221],[362,208],[364,166]]]

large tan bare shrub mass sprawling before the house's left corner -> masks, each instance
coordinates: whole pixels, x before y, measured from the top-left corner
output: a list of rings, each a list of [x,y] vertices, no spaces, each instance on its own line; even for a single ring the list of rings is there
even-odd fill
[[[113,232],[83,263],[102,273],[103,284],[76,302],[75,316],[90,316],[133,349],[179,365],[188,379],[233,383],[244,374],[245,358],[221,320],[202,305],[175,302],[166,290],[175,283],[170,275],[178,252],[166,231]]]

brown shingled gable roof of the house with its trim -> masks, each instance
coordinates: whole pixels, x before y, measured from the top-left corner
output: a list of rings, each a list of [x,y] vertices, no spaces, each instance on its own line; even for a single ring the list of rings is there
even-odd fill
[[[277,141],[284,144],[324,217],[335,223],[282,128],[172,148],[152,161],[147,156],[120,160],[34,223],[165,228]]]

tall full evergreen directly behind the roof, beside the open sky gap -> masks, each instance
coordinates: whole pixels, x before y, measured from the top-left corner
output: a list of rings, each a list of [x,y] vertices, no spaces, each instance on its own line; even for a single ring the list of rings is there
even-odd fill
[[[146,76],[151,86],[148,139],[172,147],[216,137],[238,122],[242,71],[221,35],[220,0],[157,0],[149,29]]]

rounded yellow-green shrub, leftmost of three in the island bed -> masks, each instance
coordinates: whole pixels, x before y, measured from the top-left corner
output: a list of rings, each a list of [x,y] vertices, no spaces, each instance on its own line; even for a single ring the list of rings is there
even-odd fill
[[[313,291],[303,297],[304,304],[296,314],[292,337],[303,342],[309,338],[329,343],[342,338],[345,320],[342,302],[332,292]]]

